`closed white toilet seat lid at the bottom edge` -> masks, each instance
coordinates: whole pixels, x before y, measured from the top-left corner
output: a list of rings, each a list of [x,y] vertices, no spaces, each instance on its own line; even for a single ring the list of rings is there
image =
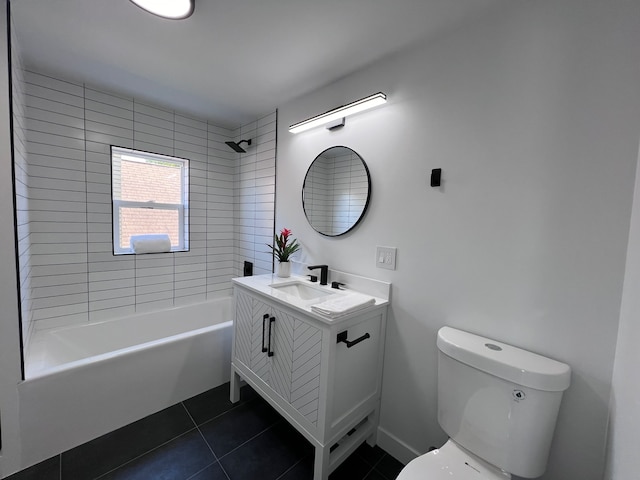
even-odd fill
[[[508,480],[511,475],[479,461],[449,440],[442,448],[415,458],[396,480]]]

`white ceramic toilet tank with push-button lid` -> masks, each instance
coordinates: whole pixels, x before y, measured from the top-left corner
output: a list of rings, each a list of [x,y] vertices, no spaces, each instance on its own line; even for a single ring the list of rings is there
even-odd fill
[[[440,329],[437,344],[444,431],[505,472],[542,475],[569,366],[450,327]]]

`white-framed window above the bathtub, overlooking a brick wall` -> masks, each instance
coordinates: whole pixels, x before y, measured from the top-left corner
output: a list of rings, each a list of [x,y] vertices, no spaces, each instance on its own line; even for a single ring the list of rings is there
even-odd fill
[[[113,253],[134,253],[132,235],[166,234],[189,250],[189,160],[111,147]]]

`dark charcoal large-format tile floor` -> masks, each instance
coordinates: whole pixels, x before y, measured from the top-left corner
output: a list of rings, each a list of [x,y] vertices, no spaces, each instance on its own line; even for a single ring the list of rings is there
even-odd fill
[[[10,480],[312,480],[313,447],[250,387],[229,384],[8,477]],[[363,444],[330,480],[394,480],[402,464]]]

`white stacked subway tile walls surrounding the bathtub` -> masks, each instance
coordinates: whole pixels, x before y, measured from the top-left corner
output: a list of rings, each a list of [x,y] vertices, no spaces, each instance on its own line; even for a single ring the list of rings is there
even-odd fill
[[[37,328],[226,296],[244,260],[271,271],[276,113],[232,131],[31,70],[24,90],[20,266]],[[224,142],[245,132],[238,155]],[[190,159],[188,252],[113,256],[111,145]]]

